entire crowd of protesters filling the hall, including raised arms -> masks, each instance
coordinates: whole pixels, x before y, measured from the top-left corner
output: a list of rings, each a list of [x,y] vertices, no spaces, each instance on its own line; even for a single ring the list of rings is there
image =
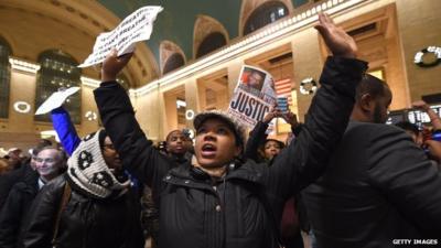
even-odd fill
[[[0,159],[0,248],[314,248],[441,246],[441,119],[385,125],[388,86],[365,74],[354,40],[320,14],[333,56],[305,122],[277,106],[246,133],[222,111],[153,144],[116,75],[114,51],[94,94],[104,129],[79,138],[52,110],[61,143]],[[271,120],[291,126],[269,139]],[[248,139],[246,137],[248,136]],[[302,235],[303,234],[303,235]]]

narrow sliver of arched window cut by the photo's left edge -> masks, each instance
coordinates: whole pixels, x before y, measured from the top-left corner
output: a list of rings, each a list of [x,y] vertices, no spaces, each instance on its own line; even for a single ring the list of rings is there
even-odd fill
[[[10,55],[11,47],[0,37],[0,118],[8,118],[9,115],[9,90],[11,79]]]

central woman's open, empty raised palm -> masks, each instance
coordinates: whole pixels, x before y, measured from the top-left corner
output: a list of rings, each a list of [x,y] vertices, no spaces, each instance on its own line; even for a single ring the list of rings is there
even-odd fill
[[[357,44],[342,28],[325,13],[319,13],[319,24],[314,26],[322,35],[334,56],[356,57]]]

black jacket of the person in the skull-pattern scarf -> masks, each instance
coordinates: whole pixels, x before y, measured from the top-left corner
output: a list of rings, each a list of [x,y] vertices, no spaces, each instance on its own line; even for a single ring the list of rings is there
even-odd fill
[[[54,224],[66,182],[65,175],[61,175],[40,191],[31,207],[23,247],[52,247]],[[72,187],[69,201],[61,215],[55,247],[143,248],[139,213],[139,194],[133,190],[116,200],[96,200]]]

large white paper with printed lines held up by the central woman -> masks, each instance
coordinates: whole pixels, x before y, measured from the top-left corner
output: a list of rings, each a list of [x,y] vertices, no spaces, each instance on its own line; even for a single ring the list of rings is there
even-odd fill
[[[118,56],[133,52],[137,42],[150,39],[153,22],[162,10],[159,6],[143,7],[122,20],[115,30],[100,33],[93,53],[78,67],[100,64],[114,47],[118,51]]]

